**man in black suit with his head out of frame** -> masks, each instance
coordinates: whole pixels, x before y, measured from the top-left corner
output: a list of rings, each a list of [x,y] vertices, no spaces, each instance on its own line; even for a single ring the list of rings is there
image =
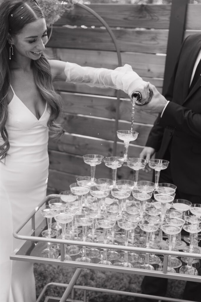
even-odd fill
[[[159,113],[140,157],[169,160],[159,182],[177,186],[175,198],[201,204],[201,34],[188,36],[181,47],[165,96],[155,86],[152,100],[138,109]],[[144,294],[165,296],[166,278],[145,277]],[[201,283],[187,281],[185,300],[201,301]],[[145,299],[144,301],[155,301]]]

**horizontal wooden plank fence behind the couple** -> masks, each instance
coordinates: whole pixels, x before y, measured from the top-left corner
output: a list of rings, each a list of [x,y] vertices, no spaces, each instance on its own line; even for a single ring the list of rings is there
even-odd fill
[[[122,65],[130,64],[162,92],[171,5],[92,4],[89,7],[111,27],[121,50]],[[200,4],[187,5],[184,37],[201,31],[200,16]],[[115,46],[106,29],[77,5],[53,25],[46,53],[52,59],[82,66],[111,69],[118,66]],[[132,108],[124,92],[117,102],[114,89],[65,82],[56,82],[55,87],[63,100],[60,120],[66,133],[58,141],[49,140],[48,194],[68,190],[77,176],[90,175],[90,166],[83,162],[84,154],[123,155],[123,143],[116,141],[115,135],[117,130],[130,130]],[[156,115],[135,111],[133,130],[139,136],[130,144],[129,156],[139,156],[155,118]],[[139,179],[150,180],[151,175],[140,171]],[[96,166],[95,177],[111,178],[111,169],[102,163]],[[133,179],[133,171],[124,164],[118,169],[117,178]]]

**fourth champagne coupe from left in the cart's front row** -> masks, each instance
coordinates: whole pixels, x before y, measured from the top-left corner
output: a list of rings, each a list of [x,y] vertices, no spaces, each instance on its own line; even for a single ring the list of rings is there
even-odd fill
[[[115,226],[116,221],[117,216],[113,213],[102,213],[99,215],[99,217],[96,217],[97,225],[103,229],[104,244],[107,244],[108,229],[110,229],[112,226]],[[107,249],[103,249],[103,258],[99,264],[112,265],[111,262],[107,260]]]

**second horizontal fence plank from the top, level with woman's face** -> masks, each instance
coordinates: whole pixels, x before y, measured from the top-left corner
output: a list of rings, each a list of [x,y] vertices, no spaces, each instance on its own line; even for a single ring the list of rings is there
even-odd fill
[[[168,30],[114,29],[120,51],[139,53],[166,53]],[[114,51],[115,46],[110,35],[100,28],[64,28],[53,27],[47,47],[77,48]]]

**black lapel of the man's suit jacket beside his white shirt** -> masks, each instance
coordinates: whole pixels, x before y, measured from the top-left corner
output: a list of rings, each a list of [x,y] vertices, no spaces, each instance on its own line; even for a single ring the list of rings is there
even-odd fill
[[[190,79],[191,79],[191,75],[193,72],[193,67],[196,61],[196,58],[198,56],[198,53],[201,49],[201,39],[198,39],[197,43],[195,43],[195,46],[193,47],[187,65],[186,65],[186,72],[185,72],[185,76],[184,76],[184,88],[183,88],[183,104],[184,102],[186,102],[191,95],[193,95],[193,93],[200,87],[201,85],[201,77],[199,79],[199,81],[196,83],[196,85],[193,87],[193,89],[191,89],[190,93],[189,92],[189,85],[190,85]]]

